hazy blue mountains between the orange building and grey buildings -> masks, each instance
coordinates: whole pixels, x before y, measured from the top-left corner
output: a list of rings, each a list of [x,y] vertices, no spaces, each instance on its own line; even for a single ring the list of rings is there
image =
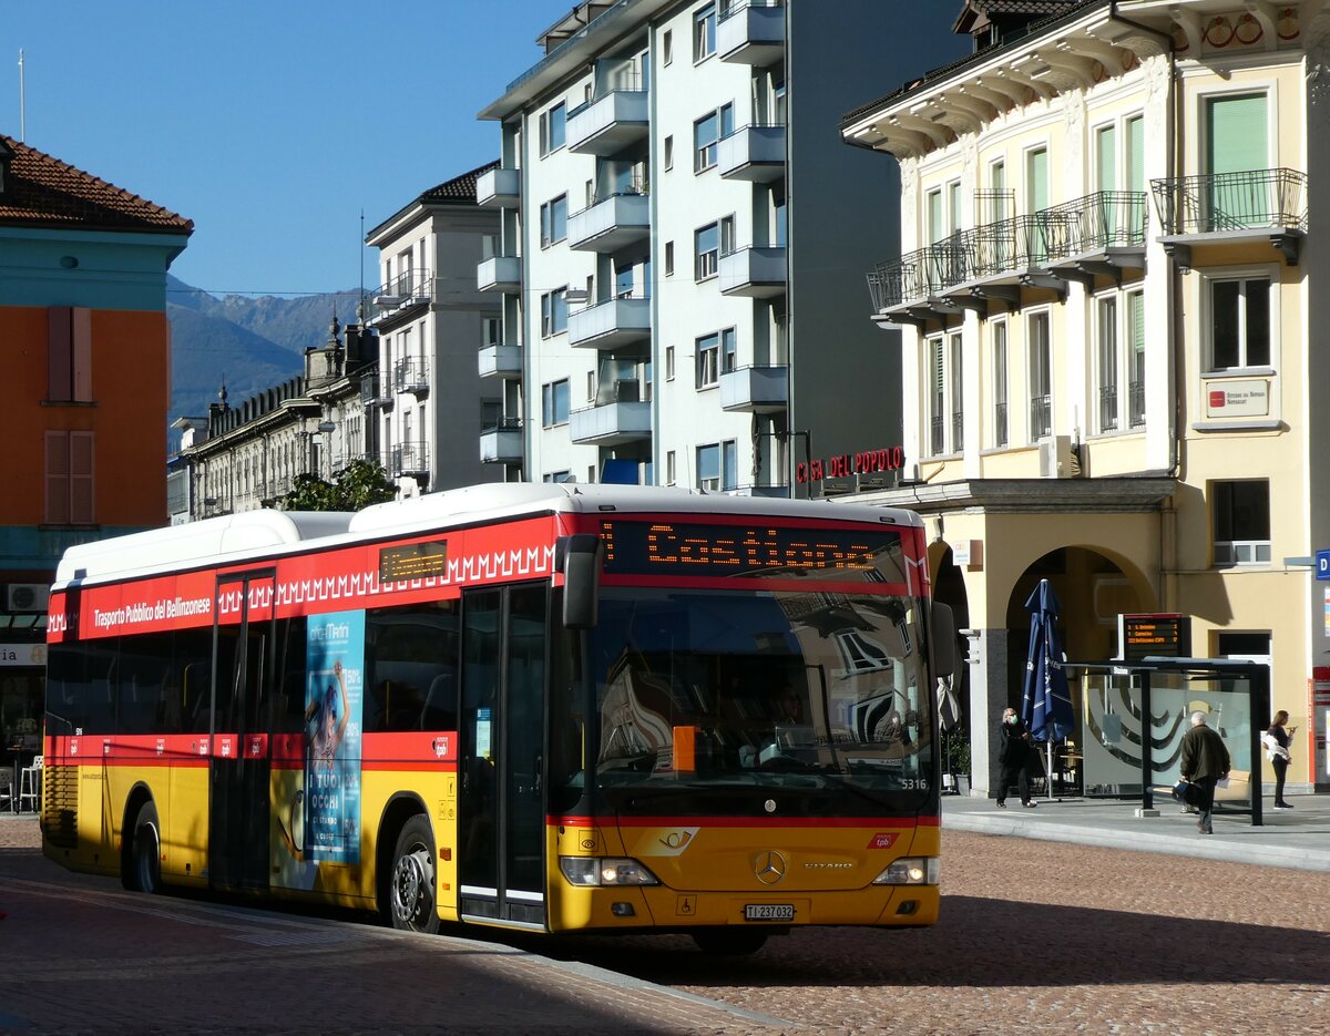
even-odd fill
[[[222,384],[231,406],[305,370],[305,350],[329,338],[334,311],[355,321],[356,290],[285,299],[215,298],[168,277],[172,406],[168,423],[207,414]],[[172,438],[174,448],[174,436]]]

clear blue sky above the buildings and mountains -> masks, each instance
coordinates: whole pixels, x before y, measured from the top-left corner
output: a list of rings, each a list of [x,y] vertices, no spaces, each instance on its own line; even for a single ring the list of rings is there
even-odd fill
[[[0,132],[194,221],[214,294],[374,286],[370,229],[499,154],[572,0],[0,0]]]

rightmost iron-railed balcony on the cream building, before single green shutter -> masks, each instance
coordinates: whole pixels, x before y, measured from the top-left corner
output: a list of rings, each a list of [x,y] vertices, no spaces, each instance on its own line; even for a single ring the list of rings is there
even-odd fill
[[[1152,180],[1164,247],[1190,265],[1193,245],[1269,238],[1291,265],[1307,231],[1307,174],[1295,169]]]

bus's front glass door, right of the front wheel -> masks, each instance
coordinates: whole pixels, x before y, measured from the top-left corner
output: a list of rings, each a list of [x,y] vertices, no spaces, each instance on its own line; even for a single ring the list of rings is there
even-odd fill
[[[545,584],[462,598],[460,912],[545,927]]]

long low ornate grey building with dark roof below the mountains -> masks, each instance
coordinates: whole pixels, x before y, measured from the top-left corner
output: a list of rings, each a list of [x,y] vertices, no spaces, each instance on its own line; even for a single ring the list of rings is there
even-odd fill
[[[335,481],[354,460],[399,475],[380,447],[379,339],[336,318],[329,340],[305,350],[305,372],[233,406],[226,388],[206,418],[182,416],[172,479],[188,501],[188,520],[278,507],[301,475]],[[173,516],[173,521],[177,521]]]

